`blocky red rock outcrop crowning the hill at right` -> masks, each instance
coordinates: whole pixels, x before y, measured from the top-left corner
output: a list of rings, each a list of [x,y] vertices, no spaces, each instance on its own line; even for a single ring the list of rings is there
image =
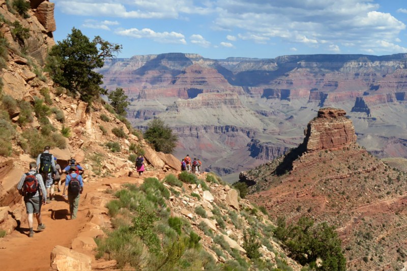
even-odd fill
[[[322,149],[338,149],[356,142],[352,121],[342,109],[322,108],[304,131],[307,153]]]

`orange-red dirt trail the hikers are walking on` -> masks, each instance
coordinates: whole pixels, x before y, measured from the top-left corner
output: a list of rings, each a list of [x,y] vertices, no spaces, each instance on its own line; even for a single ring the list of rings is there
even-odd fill
[[[134,178],[109,178],[98,183],[85,183],[84,193],[79,201],[77,219],[69,219],[69,205],[64,201],[62,192],[57,192],[56,200],[42,206],[42,220],[46,229],[36,232],[37,220],[34,219],[34,237],[28,238],[28,225],[23,223],[21,230],[0,238],[0,262],[2,271],[48,270],[50,253],[54,246],[71,247],[79,230],[88,221],[86,214],[89,206],[84,205],[85,193],[97,191],[109,183],[134,183]]]

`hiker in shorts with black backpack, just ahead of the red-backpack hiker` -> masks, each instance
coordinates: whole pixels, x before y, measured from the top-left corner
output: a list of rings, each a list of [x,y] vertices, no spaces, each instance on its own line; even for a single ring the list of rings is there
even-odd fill
[[[50,203],[49,194],[53,184],[52,175],[55,174],[54,156],[49,153],[49,149],[50,146],[45,146],[44,152],[37,157],[37,171],[41,174],[47,189],[47,203]]]

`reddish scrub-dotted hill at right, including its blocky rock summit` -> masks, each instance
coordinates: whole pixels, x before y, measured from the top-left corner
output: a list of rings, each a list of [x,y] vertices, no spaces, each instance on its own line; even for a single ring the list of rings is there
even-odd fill
[[[286,155],[240,174],[271,216],[310,216],[337,228],[350,270],[400,270],[407,174],[356,143],[342,109],[323,108]]]

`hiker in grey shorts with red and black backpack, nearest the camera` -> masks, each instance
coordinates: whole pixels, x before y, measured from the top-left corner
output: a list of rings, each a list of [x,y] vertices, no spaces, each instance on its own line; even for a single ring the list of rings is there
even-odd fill
[[[42,175],[37,172],[37,163],[30,163],[30,171],[21,176],[17,189],[22,196],[24,196],[25,208],[28,214],[28,228],[30,232],[28,237],[34,237],[33,220],[34,214],[37,218],[37,230],[44,230],[45,224],[41,219],[41,205],[45,204],[47,197],[47,190],[42,180]]]

